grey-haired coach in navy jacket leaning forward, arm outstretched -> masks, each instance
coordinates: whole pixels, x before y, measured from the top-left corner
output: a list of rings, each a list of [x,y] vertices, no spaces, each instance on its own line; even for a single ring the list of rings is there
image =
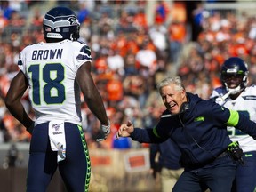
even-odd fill
[[[256,138],[256,124],[237,111],[221,107],[186,92],[179,76],[157,85],[166,110],[154,129],[122,124],[116,138],[131,137],[144,143],[161,143],[171,138],[180,148],[184,172],[173,192],[230,191],[240,149],[228,137],[227,125]],[[230,149],[234,153],[230,153]]]

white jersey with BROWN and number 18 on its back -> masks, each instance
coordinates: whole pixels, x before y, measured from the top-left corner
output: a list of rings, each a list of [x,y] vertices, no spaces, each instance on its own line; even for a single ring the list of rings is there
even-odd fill
[[[36,124],[51,120],[81,124],[81,94],[75,78],[86,61],[92,62],[90,48],[70,40],[32,44],[20,52],[18,65],[28,78]]]

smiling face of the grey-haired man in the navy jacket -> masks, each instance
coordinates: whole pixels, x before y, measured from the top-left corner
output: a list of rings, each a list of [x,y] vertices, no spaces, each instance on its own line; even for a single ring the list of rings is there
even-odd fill
[[[187,101],[185,90],[178,90],[175,84],[169,84],[160,89],[160,95],[165,107],[171,114],[178,114],[180,106]]]

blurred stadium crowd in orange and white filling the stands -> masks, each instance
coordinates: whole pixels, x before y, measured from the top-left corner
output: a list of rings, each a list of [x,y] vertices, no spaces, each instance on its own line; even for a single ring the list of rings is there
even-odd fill
[[[4,96],[18,71],[20,51],[44,41],[44,14],[56,5],[68,6],[78,16],[81,40],[92,49],[92,74],[111,121],[108,139],[96,142],[99,122],[83,102],[89,148],[147,147],[115,140],[114,135],[128,119],[140,127],[156,124],[164,110],[156,84],[164,76],[180,75],[188,92],[207,100],[221,84],[223,60],[239,56],[249,64],[250,84],[256,83],[256,18],[246,12],[239,17],[236,12],[206,12],[204,4],[186,1],[1,1],[0,143],[30,140],[5,108]],[[34,116],[28,93],[23,101]]]

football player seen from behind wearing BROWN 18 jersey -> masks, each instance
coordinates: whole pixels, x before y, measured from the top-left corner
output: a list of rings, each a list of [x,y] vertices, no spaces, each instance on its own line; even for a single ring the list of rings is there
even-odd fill
[[[91,50],[78,41],[79,28],[72,10],[55,7],[47,12],[43,22],[46,43],[28,45],[20,52],[20,71],[6,96],[6,107],[32,134],[27,192],[46,191],[57,167],[68,191],[88,191],[91,164],[82,130],[80,92],[100,121],[99,140],[110,132],[91,75]],[[35,122],[20,102],[27,88]]]

